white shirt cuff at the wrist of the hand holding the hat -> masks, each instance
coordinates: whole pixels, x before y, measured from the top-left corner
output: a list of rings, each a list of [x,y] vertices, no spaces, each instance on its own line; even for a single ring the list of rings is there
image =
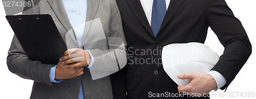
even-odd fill
[[[214,78],[217,83],[217,88],[214,89],[215,91],[217,91],[227,83],[226,79],[217,71],[210,71],[208,75]]]

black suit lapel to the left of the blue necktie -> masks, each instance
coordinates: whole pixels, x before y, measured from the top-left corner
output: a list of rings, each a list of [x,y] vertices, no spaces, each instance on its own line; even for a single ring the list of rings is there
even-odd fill
[[[135,16],[138,18],[140,23],[146,28],[148,32],[155,38],[155,35],[151,29],[150,24],[148,23],[148,20],[146,18],[145,12],[141,6],[141,3],[139,0],[126,0],[129,4],[130,8],[132,9]]]

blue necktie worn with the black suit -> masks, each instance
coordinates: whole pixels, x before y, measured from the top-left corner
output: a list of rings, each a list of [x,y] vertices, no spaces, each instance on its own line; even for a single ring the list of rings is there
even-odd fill
[[[152,7],[151,28],[155,36],[157,36],[158,34],[158,31],[163,22],[165,13],[166,13],[165,0],[154,0],[153,7]]]

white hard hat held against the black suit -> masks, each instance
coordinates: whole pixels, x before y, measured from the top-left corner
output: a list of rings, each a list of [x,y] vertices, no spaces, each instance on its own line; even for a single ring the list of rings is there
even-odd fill
[[[179,86],[185,86],[190,79],[179,79],[177,75],[193,72],[207,74],[218,62],[219,55],[202,43],[170,44],[163,47],[163,69]]]

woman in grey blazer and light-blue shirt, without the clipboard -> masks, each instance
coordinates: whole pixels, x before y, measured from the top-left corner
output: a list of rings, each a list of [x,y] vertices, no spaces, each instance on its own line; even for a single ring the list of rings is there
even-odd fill
[[[109,75],[122,69],[127,61],[116,1],[80,2],[84,3],[77,4],[80,9],[73,7],[82,11],[77,14],[87,12],[86,17],[81,16],[86,20],[81,20],[82,24],[77,24],[76,17],[72,16],[74,9],[70,6],[74,3],[67,0],[35,0],[34,7],[25,8],[24,14],[50,14],[69,49],[57,65],[42,64],[27,57],[14,35],[7,65],[12,73],[34,81],[31,98],[113,98]],[[78,35],[81,30],[82,34]],[[55,77],[51,77],[53,67]]]

